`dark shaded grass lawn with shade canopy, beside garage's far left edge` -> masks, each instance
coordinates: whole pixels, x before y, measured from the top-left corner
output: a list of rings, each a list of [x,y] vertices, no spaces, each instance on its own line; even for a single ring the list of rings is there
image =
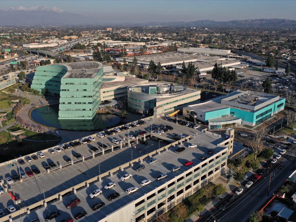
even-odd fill
[[[23,130],[23,128],[19,128],[16,126],[10,127],[9,131]],[[7,132],[0,132],[0,161],[4,162],[15,157],[19,157],[19,155],[25,156],[35,151],[44,150],[48,147],[55,146],[60,141],[49,141],[43,142],[42,140],[61,140],[61,137],[39,134],[35,132],[31,132],[29,130],[25,130],[27,132],[27,139],[31,140],[40,140],[40,142],[31,142],[23,140],[21,146],[16,140],[13,140],[11,135]]]

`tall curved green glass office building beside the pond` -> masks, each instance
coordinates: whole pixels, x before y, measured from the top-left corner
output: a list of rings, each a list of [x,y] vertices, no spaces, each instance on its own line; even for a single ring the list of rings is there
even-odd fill
[[[91,120],[101,104],[103,74],[99,62],[41,66],[31,88],[60,96],[59,120]]]

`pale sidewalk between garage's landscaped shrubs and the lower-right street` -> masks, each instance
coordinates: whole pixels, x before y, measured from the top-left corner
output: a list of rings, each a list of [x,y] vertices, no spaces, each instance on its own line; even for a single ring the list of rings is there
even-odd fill
[[[233,180],[228,184],[226,183],[226,181],[227,181],[227,178],[225,175],[222,175],[218,179],[213,181],[213,183],[215,183],[215,184],[222,183],[226,187],[226,192],[224,194],[222,194],[222,199],[224,199],[227,195],[231,194],[233,191],[235,191],[238,187],[241,186],[241,185],[238,185],[237,182],[235,182]],[[212,210],[217,204],[220,203],[220,201],[221,201],[220,195],[216,196],[214,199],[212,199],[212,201],[210,201],[207,205],[204,206],[204,211],[200,212],[200,215],[203,216],[204,214],[206,214],[207,212]],[[185,222],[195,222],[198,219],[199,219],[199,217],[196,212],[190,218],[188,218]]]

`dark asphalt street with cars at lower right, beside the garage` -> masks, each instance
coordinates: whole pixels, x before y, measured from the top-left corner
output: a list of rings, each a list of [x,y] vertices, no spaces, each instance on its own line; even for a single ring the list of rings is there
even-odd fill
[[[270,190],[272,190],[278,183],[278,181],[284,179],[286,177],[282,172],[290,173],[290,169],[292,168],[292,159],[287,159],[288,155],[284,155],[270,170],[265,173],[261,179],[256,181],[250,188],[244,188],[244,191],[241,195],[236,196],[235,199],[229,202],[228,207],[221,211],[220,209],[215,208],[214,215],[220,222],[226,221],[241,221],[245,216],[250,215],[250,211],[254,207],[254,203],[259,203],[261,199],[266,196],[268,181],[269,181],[269,173],[273,172],[275,174],[271,179]],[[280,170],[278,166],[280,164],[284,164],[285,168]],[[205,221],[205,220],[204,220]]]

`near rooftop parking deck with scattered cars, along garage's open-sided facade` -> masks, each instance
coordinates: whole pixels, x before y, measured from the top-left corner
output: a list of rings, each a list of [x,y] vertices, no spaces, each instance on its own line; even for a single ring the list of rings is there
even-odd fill
[[[181,126],[183,128],[183,126]],[[55,203],[49,204],[47,208],[38,209],[35,212],[32,212],[28,216],[21,217],[19,219],[16,219],[15,221],[31,221],[33,219],[39,218],[40,221],[44,221],[43,218],[52,211],[59,210],[61,212],[61,215],[57,218],[57,221],[60,221],[66,217],[74,217],[76,213],[80,211],[86,211],[88,212],[88,216],[85,217],[81,221],[98,221],[104,218],[109,213],[112,213],[113,211],[116,211],[118,208],[121,208],[125,204],[130,203],[131,201],[138,199],[139,197],[143,196],[144,194],[154,190],[156,187],[166,183],[167,181],[173,179],[175,176],[183,173],[191,166],[195,166],[196,164],[200,163],[200,157],[204,156],[208,153],[209,147],[216,147],[216,143],[220,142],[222,140],[221,138],[216,138],[213,136],[209,136],[209,140],[207,142],[201,142],[202,135],[197,134],[195,139],[192,139],[190,142],[183,143],[183,147],[185,148],[185,151],[176,153],[175,150],[178,148],[178,146],[173,147],[172,149],[162,152],[161,154],[158,154],[154,156],[158,160],[158,162],[150,165],[149,160],[143,161],[143,165],[145,166],[145,169],[142,169],[141,171],[135,171],[132,168],[128,168],[125,171],[122,171],[118,174],[114,174],[112,177],[108,177],[106,179],[103,179],[101,182],[94,183],[90,185],[86,189],[82,189],[80,191],[77,191],[76,194],[71,194],[67,197],[63,198],[63,202],[57,201]],[[148,140],[149,141],[149,140]],[[195,143],[198,145],[196,148],[187,148],[187,146],[191,143]],[[214,151],[214,153],[220,152],[221,150],[225,149],[224,147],[217,147]],[[214,154],[213,153],[213,154]],[[212,154],[212,155],[213,155]],[[209,157],[211,155],[207,154]],[[190,160],[193,162],[190,166],[184,166],[184,163]],[[134,167],[137,167],[138,164],[136,164]],[[171,172],[170,169],[173,166],[181,167],[179,171]],[[132,175],[131,178],[121,181],[120,178],[122,175],[130,173]],[[162,180],[156,180],[155,178],[159,174],[167,174],[167,178]],[[146,185],[145,187],[141,186],[141,181],[144,179],[151,180],[152,183]],[[115,187],[105,190],[103,187],[109,183],[114,182],[116,185]],[[138,187],[138,191],[134,192],[133,194],[127,195],[125,190],[129,187]],[[88,195],[100,188],[103,193],[98,195],[94,199],[90,199]],[[120,194],[120,197],[117,199],[114,199],[113,201],[109,201],[106,199],[109,194],[118,192]],[[65,207],[68,202],[74,198],[78,197],[81,200],[81,203],[79,206],[75,206],[72,209],[67,209]],[[106,205],[103,208],[100,208],[100,210],[97,210],[97,212],[94,212],[91,207],[93,204],[97,202],[104,202]]]

